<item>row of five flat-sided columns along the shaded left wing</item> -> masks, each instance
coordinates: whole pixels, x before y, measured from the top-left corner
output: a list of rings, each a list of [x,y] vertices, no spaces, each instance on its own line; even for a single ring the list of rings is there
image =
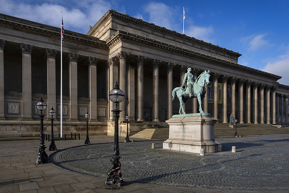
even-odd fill
[[[4,117],[4,47],[5,40],[0,40],[0,119]],[[33,45],[20,44],[22,54],[22,120],[32,120],[32,74],[31,74],[31,54]],[[48,111],[52,106],[56,109],[56,67],[55,57],[57,50],[47,48],[47,95]],[[77,59],[78,54],[68,53],[69,61],[69,94],[70,94],[70,121],[78,121],[77,105]],[[97,58],[88,57],[88,76],[89,76],[89,96],[90,96],[90,120],[97,121]],[[50,115],[48,115],[50,116]]]

